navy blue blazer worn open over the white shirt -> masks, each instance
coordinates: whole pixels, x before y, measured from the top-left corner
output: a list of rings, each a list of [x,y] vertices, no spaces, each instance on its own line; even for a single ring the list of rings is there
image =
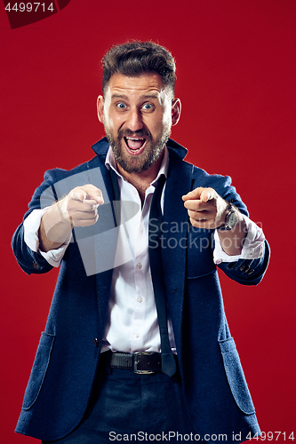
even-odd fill
[[[164,222],[171,248],[164,248],[162,254],[183,391],[196,433],[201,437],[224,434],[227,436],[223,440],[237,443],[233,433],[240,433],[241,440],[245,440],[260,432],[260,428],[224,313],[212,260],[212,230],[188,224],[181,196],[197,186],[211,186],[223,198],[232,200],[242,213],[247,214],[247,210],[236,189],[230,186],[230,178],[209,175],[186,163],[183,158],[187,150],[172,139],[168,148]],[[60,439],[79,424],[100,358],[112,279],[112,268],[107,269],[101,258],[110,257],[116,239],[114,235],[108,236],[115,220],[109,204],[114,196],[105,166],[107,139],[101,139],[92,149],[96,156],[74,170],[47,171],[25,215],[26,218],[32,210],[51,204],[74,186],[86,183],[99,186],[106,203],[100,206],[100,219],[95,226],[74,229],[72,242],[61,261],[52,306],[16,427],[16,432],[40,440]],[[172,233],[173,240],[169,238]],[[13,235],[12,248],[27,274],[52,269],[23,241],[22,224]],[[236,282],[256,285],[266,271],[268,256],[266,242],[262,258],[240,259],[219,267]],[[94,338],[99,338],[99,346],[94,345]]]

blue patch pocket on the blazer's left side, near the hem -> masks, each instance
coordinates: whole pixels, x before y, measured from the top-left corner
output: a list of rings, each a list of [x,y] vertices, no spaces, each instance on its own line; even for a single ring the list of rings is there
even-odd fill
[[[55,339],[54,335],[44,332],[41,334],[39,345],[36,352],[36,358],[33,364],[33,368],[31,370],[31,374],[28,380],[28,385],[24,395],[24,400],[22,404],[23,410],[28,410],[28,408],[31,408],[38,397],[38,394],[44,383],[46,370],[48,369],[48,365],[51,359],[52,345],[54,339]]]

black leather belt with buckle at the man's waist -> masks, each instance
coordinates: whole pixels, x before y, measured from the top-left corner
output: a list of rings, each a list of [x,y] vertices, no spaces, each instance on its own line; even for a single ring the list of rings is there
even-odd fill
[[[130,369],[134,373],[147,375],[162,371],[160,353],[137,352],[121,353],[115,352],[111,355],[110,367],[112,369]]]

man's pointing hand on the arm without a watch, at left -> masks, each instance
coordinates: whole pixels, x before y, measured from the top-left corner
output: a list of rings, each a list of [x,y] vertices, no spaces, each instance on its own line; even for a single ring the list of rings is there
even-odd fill
[[[59,202],[60,215],[72,227],[92,226],[99,218],[98,207],[102,203],[104,199],[96,186],[76,186]]]

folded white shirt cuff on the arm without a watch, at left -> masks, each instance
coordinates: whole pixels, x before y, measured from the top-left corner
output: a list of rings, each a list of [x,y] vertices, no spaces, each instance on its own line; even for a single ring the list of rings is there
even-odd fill
[[[24,220],[24,241],[28,245],[28,248],[41,254],[51,266],[58,267],[60,266],[60,261],[64,257],[68,244],[71,241],[72,234],[69,234],[66,241],[56,250],[45,252],[39,249],[38,230],[41,224],[41,219],[49,208],[50,207],[45,207],[42,210],[33,210],[28,215],[28,218]]]

